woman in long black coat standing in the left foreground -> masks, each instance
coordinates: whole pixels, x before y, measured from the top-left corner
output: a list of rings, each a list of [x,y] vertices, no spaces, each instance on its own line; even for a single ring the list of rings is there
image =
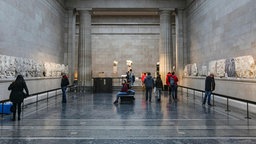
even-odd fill
[[[23,92],[25,89],[26,93]],[[26,82],[22,75],[18,75],[16,80],[11,83],[8,87],[8,90],[11,90],[10,94],[10,101],[13,103],[13,118],[12,120],[15,121],[16,119],[16,107],[18,105],[18,120],[20,120],[21,114],[21,103],[23,102],[24,98],[29,95],[28,88]]]

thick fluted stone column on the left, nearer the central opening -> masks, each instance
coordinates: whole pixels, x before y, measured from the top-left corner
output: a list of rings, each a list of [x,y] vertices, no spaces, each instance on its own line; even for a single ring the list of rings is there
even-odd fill
[[[92,86],[91,14],[81,10],[78,52],[78,83],[82,88]]]

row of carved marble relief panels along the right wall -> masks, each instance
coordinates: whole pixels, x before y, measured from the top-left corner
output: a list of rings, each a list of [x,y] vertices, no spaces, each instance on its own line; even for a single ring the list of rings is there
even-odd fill
[[[201,65],[198,69],[192,68],[193,66],[196,66],[196,64],[185,66],[184,76],[195,76],[195,73],[198,73],[198,76],[205,76],[213,73],[217,77],[256,77],[255,61],[250,55],[210,61],[208,71],[205,65]]]

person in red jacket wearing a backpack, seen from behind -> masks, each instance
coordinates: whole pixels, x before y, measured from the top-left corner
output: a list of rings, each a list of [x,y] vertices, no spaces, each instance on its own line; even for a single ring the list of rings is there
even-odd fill
[[[177,101],[177,92],[178,92],[178,77],[175,75],[175,72],[172,72],[171,76],[169,77],[171,95],[174,101]]]

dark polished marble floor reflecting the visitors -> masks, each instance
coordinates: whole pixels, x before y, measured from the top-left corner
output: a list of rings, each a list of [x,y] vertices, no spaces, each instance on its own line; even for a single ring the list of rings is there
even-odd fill
[[[134,104],[113,104],[113,93],[68,93],[25,107],[21,121],[1,119],[0,144],[255,144],[256,118],[201,105],[179,94],[178,102],[136,90]]]

